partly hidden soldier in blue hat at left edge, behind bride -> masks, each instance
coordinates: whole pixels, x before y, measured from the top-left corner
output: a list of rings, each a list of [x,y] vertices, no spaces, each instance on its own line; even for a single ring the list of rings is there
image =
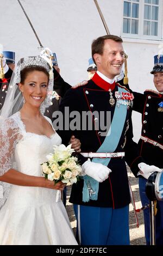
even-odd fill
[[[4,51],[3,57],[3,70],[4,78],[0,79],[0,110],[3,107],[5,96],[8,92],[12,71],[15,65],[15,52]]]

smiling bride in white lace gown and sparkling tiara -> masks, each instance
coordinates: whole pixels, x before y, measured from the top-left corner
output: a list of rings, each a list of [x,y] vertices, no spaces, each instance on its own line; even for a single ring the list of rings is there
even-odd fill
[[[0,129],[0,180],[14,184],[0,211],[0,245],[77,245],[58,197],[65,184],[43,178],[40,166],[53,145],[61,144],[41,113],[53,89],[50,71],[39,56],[23,58],[17,66],[12,89],[18,86],[24,104]]]

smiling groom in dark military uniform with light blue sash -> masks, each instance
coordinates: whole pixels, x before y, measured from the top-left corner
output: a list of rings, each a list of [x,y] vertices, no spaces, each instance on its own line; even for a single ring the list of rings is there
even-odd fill
[[[70,113],[69,130],[64,123],[66,129],[58,131],[63,143],[72,134],[82,143],[78,159],[83,177],[73,184],[70,197],[77,218],[77,238],[82,245],[129,245],[130,193],[125,161],[130,166],[143,159],[132,140],[133,94],[115,83],[124,62],[122,39],[115,35],[97,38],[92,43],[92,58],[96,74],[85,86],[68,90],[60,105],[63,121],[67,108]],[[72,118],[75,113],[79,118]],[[90,113],[86,127],[84,113]]]

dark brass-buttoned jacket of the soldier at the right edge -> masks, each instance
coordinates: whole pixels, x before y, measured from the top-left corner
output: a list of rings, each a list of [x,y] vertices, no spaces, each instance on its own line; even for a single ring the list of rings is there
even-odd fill
[[[159,103],[163,102],[163,95],[150,90],[144,94],[134,92],[133,110],[142,114],[141,135],[152,139],[163,145],[163,112],[158,111]],[[140,139],[139,155],[145,159],[148,164],[154,164],[163,168],[163,150],[148,142]],[[135,164],[131,169],[136,169]]]

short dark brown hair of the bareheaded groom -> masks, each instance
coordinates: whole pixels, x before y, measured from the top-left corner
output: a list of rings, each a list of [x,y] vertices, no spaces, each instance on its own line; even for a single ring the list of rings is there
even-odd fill
[[[95,59],[93,58],[93,55],[95,53],[98,53],[98,54],[101,54],[101,55],[103,54],[104,41],[106,39],[111,39],[111,40],[113,40],[115,42],[123,42],[122,38],[120,38],[117,35],[103,35],[103,36],[99,36],[99,38],[93,40],[93,42],[92,42],[92,59],[93,59],[93,62],[95,62]]]

